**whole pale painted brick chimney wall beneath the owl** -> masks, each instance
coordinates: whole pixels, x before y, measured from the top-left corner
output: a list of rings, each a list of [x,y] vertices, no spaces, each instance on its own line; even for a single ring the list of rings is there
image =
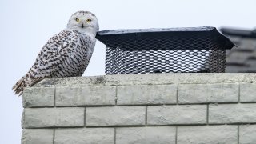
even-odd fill
[[[256,74],[46,79],[23,95],[22,143],[256,142]]]

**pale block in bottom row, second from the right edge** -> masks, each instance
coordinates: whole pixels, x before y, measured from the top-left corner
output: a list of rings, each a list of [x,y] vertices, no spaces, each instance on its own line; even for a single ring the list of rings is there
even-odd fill
[[[238,143],[238,126],[178,126],[177,143]]]

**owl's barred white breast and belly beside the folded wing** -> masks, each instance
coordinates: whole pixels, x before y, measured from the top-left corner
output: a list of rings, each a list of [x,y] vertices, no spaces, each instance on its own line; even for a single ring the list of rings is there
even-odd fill
[[[78,34],[70,38],[68,42],[73,46],[67,44],[62,49],[64,62],[58,66],[58,71],[52,74],[52,78],[80,77],[90,62],[96,42],[95,38],[86,34]],[[76,46],[74,46],[74,43],[76,43]]]

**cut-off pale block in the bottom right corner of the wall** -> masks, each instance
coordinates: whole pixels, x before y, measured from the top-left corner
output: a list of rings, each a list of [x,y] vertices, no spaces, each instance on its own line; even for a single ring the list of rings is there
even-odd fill
[[[256,142],[256,125],[243,125],[239,129],[240,144],[249,144]]]

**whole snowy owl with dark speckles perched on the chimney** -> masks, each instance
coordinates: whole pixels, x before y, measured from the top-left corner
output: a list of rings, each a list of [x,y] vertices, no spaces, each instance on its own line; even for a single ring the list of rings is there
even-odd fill
[[[13,87],[22,95],[24,87],[43,78],[81,77],[94,51],[98,20],[89,11],[74,13],[65,30],[54,35],[42,47],[34,65]]]

